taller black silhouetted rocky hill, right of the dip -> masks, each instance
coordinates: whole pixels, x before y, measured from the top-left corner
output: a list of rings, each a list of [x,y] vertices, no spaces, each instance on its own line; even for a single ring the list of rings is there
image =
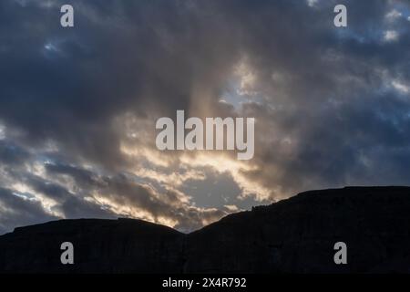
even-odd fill
[[[333,262],[339,241],[348,265]],[[410,188],[301,193],[223,218],[187,246],[189,272],[410,272]]]

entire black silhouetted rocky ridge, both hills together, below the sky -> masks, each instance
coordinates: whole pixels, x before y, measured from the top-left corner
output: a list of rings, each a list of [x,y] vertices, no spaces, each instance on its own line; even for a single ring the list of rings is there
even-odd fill
[[[60,263],[62,242],[75,265]],[[347,245],[335,265],[333,245]],[[410,272],[410,188],[312,191],[190,235],[138,220],[62,220],[0,236],[0,272]]]

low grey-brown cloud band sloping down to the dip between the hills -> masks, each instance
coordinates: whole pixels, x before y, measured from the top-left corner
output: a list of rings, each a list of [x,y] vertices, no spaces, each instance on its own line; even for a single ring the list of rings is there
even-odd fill
[[[119,206],[145,211],[152,215],[156,222],[159,217],[175,220],[179,229],[183,231],[199,228],[202,222],[212,222],[227,214],[226,211],[217,209],[190,207],[187,203],[180,202],[178,193],[172,190],[157,193],[155,189],[136,183],[125,174],[101,176],[94,173],[94,179],[84,179],[82,175],[87,173],[86,176],[89,178],[90,172],[67,165],[47,165],[47,172],[52,175],[69,175],[75,179],[82,193],[95,192]]]

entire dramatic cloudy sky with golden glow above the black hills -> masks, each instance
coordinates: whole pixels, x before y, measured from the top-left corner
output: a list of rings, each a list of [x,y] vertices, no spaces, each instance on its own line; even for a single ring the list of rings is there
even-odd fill
[[[303,190],[410,184],[409,48],[406,0],[2,0],[0,234],[120,216],[190,231]],[[158,151],[176,110],[254,117],[254,158]]]

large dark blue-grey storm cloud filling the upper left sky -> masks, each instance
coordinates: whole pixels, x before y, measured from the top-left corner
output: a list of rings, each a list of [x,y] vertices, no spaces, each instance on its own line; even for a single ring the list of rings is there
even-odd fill
[[[1,4],[14,16],[1,33],[1,117],[30,141],[56,139],[66,151],[110,167],[124,163],[113,117],[129,109],[143,114],[144,99],[185,108],[192,78],[217,80],[216,66],[231,58],[232,45],[213,50],[218,36],[179,2],[73,2],[73,30],[56,21],[58,2],[18,3]]]

